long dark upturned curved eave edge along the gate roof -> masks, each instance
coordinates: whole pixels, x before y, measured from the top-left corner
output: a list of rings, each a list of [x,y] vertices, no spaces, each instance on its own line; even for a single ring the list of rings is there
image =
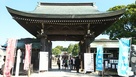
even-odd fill
[[[24,11],[18,11],[9,7],[6,7],[10,14],[23,17],[32,17],[32,18],[105,18],[112,17],[117,15],[122,15],[125,12],[125,9],[121,9],[113,12],[97,13],[97,14],[37,14]]]

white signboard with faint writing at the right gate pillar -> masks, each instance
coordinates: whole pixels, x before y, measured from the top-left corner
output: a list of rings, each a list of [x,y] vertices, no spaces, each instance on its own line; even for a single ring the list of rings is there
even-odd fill
[[[94,54],[84,53],[84,72],[94,72]]]

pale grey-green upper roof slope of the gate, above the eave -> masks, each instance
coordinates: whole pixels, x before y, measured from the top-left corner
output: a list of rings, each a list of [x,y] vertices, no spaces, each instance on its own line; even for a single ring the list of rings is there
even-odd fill
[[[99,11],[96,6],[89,5],[81,5],[82,3],[76,5],[64,5],[64,3],[60,4],[48,4],[48,5],[38,5],[34,11],[31,13],[38,14],[97,14]],[[83,3],[84,4],[84,3]],[[89,3],[88,3],[89,4]]]

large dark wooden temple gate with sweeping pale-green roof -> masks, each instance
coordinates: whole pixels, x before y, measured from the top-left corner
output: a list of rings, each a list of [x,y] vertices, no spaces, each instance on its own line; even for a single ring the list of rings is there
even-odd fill
[[[38,3],[34,11],[25,12],[7,7],[24,29],[41,39],[40,51],[49,52],[51,68],[52,41],[78,41],[82,64],[90,53],[90,43],[109,28],[125,9],[100,12],[94,3]],[[82,65],[83,68],[84,65]]]

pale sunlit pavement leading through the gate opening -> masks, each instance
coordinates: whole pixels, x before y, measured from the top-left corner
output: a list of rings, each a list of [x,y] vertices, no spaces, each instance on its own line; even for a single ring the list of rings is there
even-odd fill
[[[98,76],[96,72],[84,73],[80,71],[80,73],[77,73],[76,70],[69,70],[69,69],[65,70],[64,68],[58,70],[58,67],[55,64],[52,65],[52,69],[50,69],[49,71],[40,72],[40,73],[34,72],[30,75],[30,77],[102,77],[102,76]],[[0,75],[0,77],[2,77],[2,75]],[[19,77],[28,77],[28,76],[20,75]],[[115,76],[104,76],[104,77],[115,77]]]

